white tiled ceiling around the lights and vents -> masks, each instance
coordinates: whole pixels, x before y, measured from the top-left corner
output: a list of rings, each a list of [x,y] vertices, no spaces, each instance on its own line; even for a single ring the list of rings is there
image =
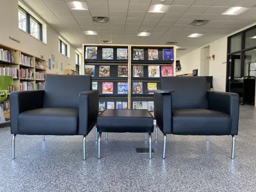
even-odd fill
[[[181,55],[256,22],[255,0],[166,0],[163,4],[171,5],[166,13],[147,13],[150,4],[160,4],[160,0],[86,0],[89,10],[83,11],[69,10],[68,1],[25,2],[76,48],[82,44],[99,44],[100,40],[111,40],[113,44],[171,41],[187,49],[178,51]],[[241,15],[221,15],[231,6],[250,9]],[[94,23],[95,16],[109,17],[109,22]],[[205,26],[190,26],[195,19],[210,22]],[[83,31],[87,30],[97,31],[98,35],[84,35]],[[144,30],[151,32],[151,36],[136,36]],[[187,38],[191,33],[205,35]]]

